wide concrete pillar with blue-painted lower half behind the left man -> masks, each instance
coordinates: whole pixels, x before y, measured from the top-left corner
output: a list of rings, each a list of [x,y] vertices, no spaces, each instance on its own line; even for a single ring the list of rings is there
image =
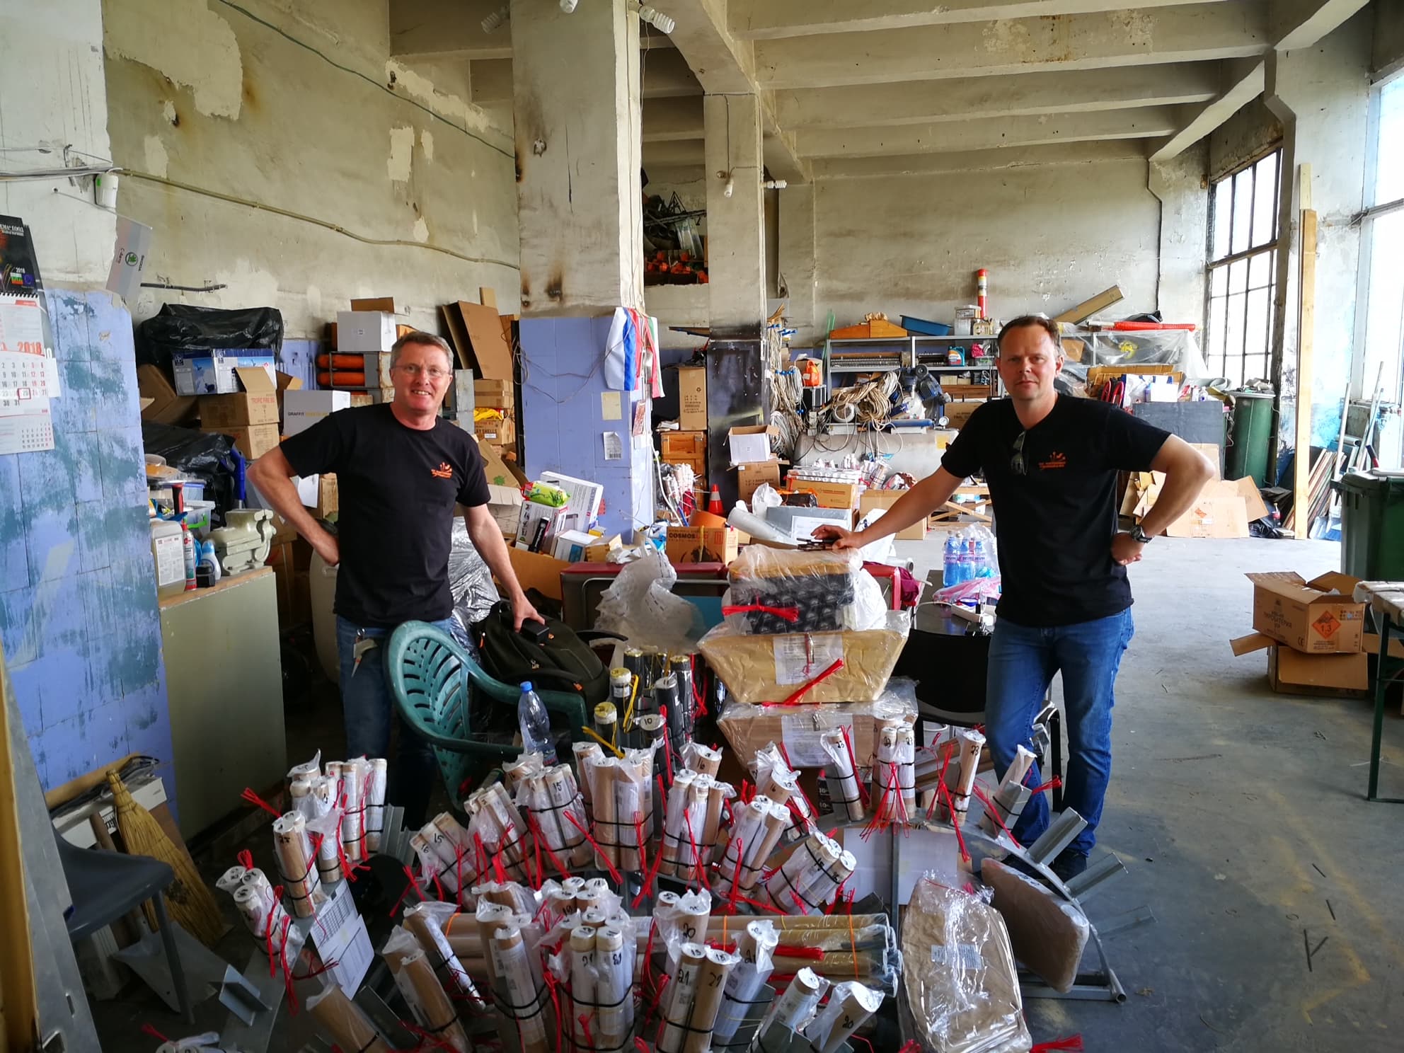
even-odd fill
[[[649,385],[621,390],[604,358],[615,309],[643,307],[639,18],[511,8],[525,470],[601,483],[601,524],[632,532],[653,521]]]

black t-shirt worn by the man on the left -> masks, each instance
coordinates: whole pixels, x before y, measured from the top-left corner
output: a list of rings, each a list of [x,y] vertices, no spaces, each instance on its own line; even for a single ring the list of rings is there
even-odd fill
[[[286,439],[282,452],[300,476],[337,476],[338,615],[393,628],[453,612],[448,584],[453,505],[489,498],[472,432],[446,420],[416,431],[382,403],[329,413]]]

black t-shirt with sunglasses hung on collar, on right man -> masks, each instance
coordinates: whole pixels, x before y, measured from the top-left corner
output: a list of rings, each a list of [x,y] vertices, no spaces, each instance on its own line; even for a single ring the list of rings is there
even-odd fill
[[[1125,611],[1132,590],[1111,548],[1116,473],[1150,470],[1170,432],[1111,403],[1060,395],[1025,435],[1021,476],[1011,461],[1024,431],[1011,400],[986,403],[941,462],[959,479],[983,470],[990,486],[1000,616],[1046,628]]]

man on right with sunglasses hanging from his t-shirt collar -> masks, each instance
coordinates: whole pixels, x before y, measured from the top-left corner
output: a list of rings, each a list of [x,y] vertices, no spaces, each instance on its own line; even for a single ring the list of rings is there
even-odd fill
[[[994,503],[1002,591],[990,642],[986,736],[1002,778],[1053,674],[1063,674],[1068,761],[1063,800],[1087,828],[1054,859],[1067,880],[1087,868],[1112,774],[1116,670],[1130,643],[1126,566],[1179,518],[1213,477],[1209,461],[1177,435],[1095,399],[1059,395],[1063,343],[1049,319],[1025,314],[1001,331],[995,366],[1008,399],[986,403],[951,444],[941,468],[861,532],[820,528],[835,548],[896,534],[984,473]],[[1155,505],[1129,532],[1116,529],[1116,473],[1164,472]],[[1038,785],[1038,774],[1026,782]],[[1040,793],[1014,835],[1031,844],[1049,824]]]

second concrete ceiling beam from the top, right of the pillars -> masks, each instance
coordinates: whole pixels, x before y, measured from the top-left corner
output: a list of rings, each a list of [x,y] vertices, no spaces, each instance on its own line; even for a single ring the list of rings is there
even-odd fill
[[[1012,18],[755,42],[762,88],[1234,59],[1271,45],[1268,0]],[[705,81],[703,81],[705,84]]]

